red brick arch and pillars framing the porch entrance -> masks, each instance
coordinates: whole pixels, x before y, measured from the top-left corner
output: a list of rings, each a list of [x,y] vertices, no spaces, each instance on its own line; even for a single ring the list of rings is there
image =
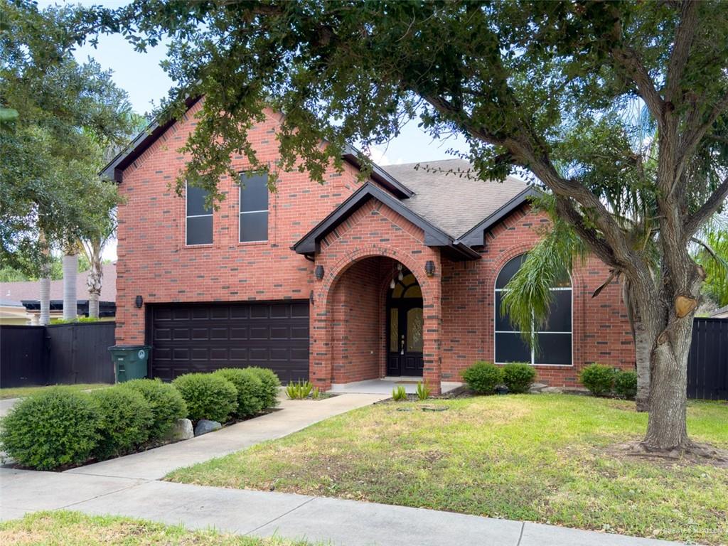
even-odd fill
[[[327,252],[317,256],[316,264],[324,267],[324,277],[314,289],[314,303],[311,312],[311,373],[314,384],[322,389],[331,387],[333,379],[333,301],[332,295],[336,283],[343,278],[354,264],[367,258],[391,258],[400,262],[415,276],[422,288],[422,301],[424,312],[424,372],[423,378],[433,389],[440,392],[440,335],[442,330],[441,314],[441,286],[440,286],[440,254],[438,250],[422,245],[420,253],[412,254],[389,245],[372,244],[361,245],[347,250],[336,259],[327,258],[328,250],[334,250],[334,243]],[[419,249],[418,249],[419,250]],[[435,275],[427,277],[424,272],[428,260],[435,263]],[[387,280],[387,283],[389,280]],[[381,281],[381,288],[386,285]],[[381,290],[386,296],[386,290]],[[384,298],[381,300],[384,309]]]

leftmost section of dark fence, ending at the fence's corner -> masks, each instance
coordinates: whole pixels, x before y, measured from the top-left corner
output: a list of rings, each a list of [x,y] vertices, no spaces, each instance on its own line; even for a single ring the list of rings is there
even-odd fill
[[[0,326],[0,387],[47,383],[45,328]]]

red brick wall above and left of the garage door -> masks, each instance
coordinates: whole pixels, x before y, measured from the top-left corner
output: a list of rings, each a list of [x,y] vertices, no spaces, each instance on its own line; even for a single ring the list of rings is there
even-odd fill
[[[331,168],[321,186],[305,173],[279,173],[277,193],[269,197],[269,240],[238,242],[237,180],[221,180],[227,195],[213,217],[213,244],[185,245],[185,199],[170,187],[185,157],[179,149],[194,130],[198,103],[137,161],[124,170],[119,190],[119,245],[116,281],[116,342],[144,341],[144,312],[135,296],[147,304],[175,301],[246,301],[307,299],[313,288],[313,264],[290,250],[359,185],[356,171]],[[262,161],[277,159],[277,114],[250,133]],[[234,157],[234,167],[248,164]]]

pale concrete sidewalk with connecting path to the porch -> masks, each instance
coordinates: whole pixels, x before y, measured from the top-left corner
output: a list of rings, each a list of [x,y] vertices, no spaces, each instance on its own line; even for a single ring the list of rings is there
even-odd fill
[[[317,402],[285,400],[281,411],[218,432],[66,472],[0,468],[0,520],[38,510],[78,510],[341,546],[676,544],[437,510],[158,481],[177,468],[280,438],[386,397],[347,394]]]

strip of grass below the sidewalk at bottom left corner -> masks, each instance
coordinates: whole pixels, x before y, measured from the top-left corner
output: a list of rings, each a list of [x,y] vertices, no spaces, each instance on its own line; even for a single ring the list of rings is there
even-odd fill
[[[0,544],[15,545],[165,545],[165,546],[305,546],[306,542],[256,539],[213,531],[186,531],[130,518],[88,516],[78,512],[39,512],[0,523]]]

